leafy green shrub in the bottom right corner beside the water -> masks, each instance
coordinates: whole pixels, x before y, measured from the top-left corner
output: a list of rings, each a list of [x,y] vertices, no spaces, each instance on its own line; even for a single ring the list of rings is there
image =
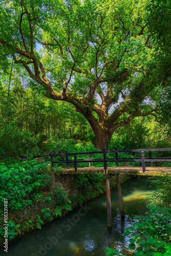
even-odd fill
[[[158,205],[147,206],[149,211],[145,216],[138,216],[139,219],[131,227],[125,228],[122,236],[132,234],[130,249],[135,249],[133,256],[169,256],[171,253],[171,208]]]

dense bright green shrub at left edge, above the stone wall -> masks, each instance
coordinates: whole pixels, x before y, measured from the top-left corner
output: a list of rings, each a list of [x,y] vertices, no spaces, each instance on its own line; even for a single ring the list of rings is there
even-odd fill
[[[0,213],[3,213],[4,198],[8,207],[18,210],[31,205],[41,198],[40,190],[50,184],[47,164],[36,160],[0,165]]]

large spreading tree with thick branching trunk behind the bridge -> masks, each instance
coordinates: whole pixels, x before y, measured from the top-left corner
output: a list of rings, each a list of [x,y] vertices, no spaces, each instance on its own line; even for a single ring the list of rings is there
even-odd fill
[[[119,126],[155,115],[156,106],[147,101],[157,81],[143,18],[146,4],[2,0],[1,61],[12,56],[27,70],[33,87],[72,103],[89,121],[101,149]]]

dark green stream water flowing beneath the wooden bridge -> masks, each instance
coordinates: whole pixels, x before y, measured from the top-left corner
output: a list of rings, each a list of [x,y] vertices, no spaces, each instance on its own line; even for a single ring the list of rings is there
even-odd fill
[[[121,220],[117,189],[111,191],[112,225],[109,231],[106,228],[106,196],[102,195],[82,207],[78,207],[68,216],[57,219],[35,230],[8,246],[8,253],[0,249],[4,256],[104,256],[105,248],[117,248],[124,254],[132,255],[127,250],[130,238],[121,234],[124,228],[131,226],[136,220],[133,217],[144,215],[144,191],[150,193],[151,180],[147,177],[132,179],[121,185],[125,219]],[[138,197],[138,198],[137,198]]]

